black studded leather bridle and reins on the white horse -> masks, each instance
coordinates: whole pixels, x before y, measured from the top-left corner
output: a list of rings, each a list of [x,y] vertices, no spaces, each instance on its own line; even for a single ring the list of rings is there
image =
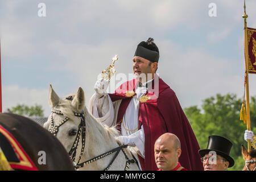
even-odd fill
[[[67,98],[68,99],[68,98]],[[61,115],[64,115],[60,110],[55,110],[55,109],[52,109],[52,114],[51,114],[51,127],[49,129],[49,132],[51,132],[53,135],[57,135],[57,132],[59,131],[59,127],[61,125],[63,125],[65,122],[68,121],[68,117],[65,117],[63,119],[63,121],[61,121],[59,124],[57,125],[54,125],[54,122],[53,122],[53,113],[55,114],[61,114]],[[109,166],[106,167],[103,171],[108,171],[108,169],[112,166],[114,160],[117,158],[119,152],[122,150],[123,154],[125,155],[125,159],[126,159],[126,165],[125,165],[125,171],[129,170],[129,165],[131,163],[137,163],[138,165],[138,162],[137,160],[134,160],[134,159],[129,159],[128,156],[126,155],[125,151],[123,150],[124,148],[127,147],[127,145],[123,145],[123,146],[118,146],[116,148],[114,148],[113,150],[110,150],[108,152],[105,152],[104,154],[101,154],[101,155],[98,155],[92,159],[89,159],[89,160],[86,160],[85,162],[82,162],[82,163],[79,163],[80,162],[80,159],[82,157],[82,154],[84,154],[84,147],[85,147],[85,132],[86,132],[86,125],[85,125],[85,117],[84,117],[84,112],[82,111],[82,113],[75,113],[73,112],[74,115],[76,117],[81,117],[81,122],[80,122],[80,125],[79,125],[79,130],[77,132],[77,136],[76,136],[76,139],[75,139],[75,142],[73,143],[72,147],[71,147],[71,150],[68,152],[69,156],[71,156],[71,160],[74,164],[74,167],[75,169],[79,169],[81,167],[84,167],[84,165],[86,164],[89,164],[89,163],[92,163],[92,162],[95,162],[96,160],[98,159],[102,159],[104,158],[105,156],[108,156],[110,154],[113,154],[114,152],[115,155],[114,155],[114,158],[110,161],[109,163]],[[82,135],[82,136],[81,136]],[[81,148],[81,152],[80,152],[80,155],[79,155],[79,160],[77,162],[77,164],[75,163],[75,158],[76,158],[76,150],[77,150],[77,146],[79,144],[79,140],[80,140],[80,136],[82,138],[82,148]]]

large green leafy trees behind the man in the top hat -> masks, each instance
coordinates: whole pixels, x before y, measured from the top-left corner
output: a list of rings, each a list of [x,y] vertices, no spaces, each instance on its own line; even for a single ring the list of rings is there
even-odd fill
[[[230,156],[235,160],[234,167],[229,170],[241,170],[244,161],[241,157],[241,144],[247,147],[243,139],[246,125],[240,121],[242,100],[236,94],[216,94],[206,98],[201,109],[191,106],[184,109],[185,114],[199,142],[200,148],[206,148],[210,135],[220,135],[232,141],[233,147]],[[251,130],[256,131],[256,97],[250,100]]]

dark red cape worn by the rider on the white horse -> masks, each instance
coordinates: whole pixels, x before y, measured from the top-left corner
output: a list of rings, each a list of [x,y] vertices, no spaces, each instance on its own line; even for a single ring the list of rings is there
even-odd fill
[[[129,102],[133,96],[127,95],[127,90],[134,91],[137,80],[130,80],[123,83],[115,90],[114,94],[109,94],[112,101],[121,100],[117,115],[117,124],[121,129],[121,121]],[[151,88],[151,89],[150,89]],[[146,102],[139,104],[139,129],[143,125],[145,136],[145,159],[139,156],[143,170],[155,171],[158,168],[155,164],[154,144],[155,140],[164,133],[173,133],[181,143],[181,156],[179,162],[181,166],[191,170],[203,170],[198,151],[200,150],[195,134],[185,116],[175,92],[161,78],[159,78],[159,96],[153,97],[155,86],[154,80],[145,95],[151,97]]]

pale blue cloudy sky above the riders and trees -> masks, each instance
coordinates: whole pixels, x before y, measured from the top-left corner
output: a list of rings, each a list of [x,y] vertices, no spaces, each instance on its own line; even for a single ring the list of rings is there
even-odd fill
[[[38,16],[39,3],[46,17]],[[182,107],[217,93],[243,96],[242,0],[2,0],[0,7],[3,111],[39,104],[47,116],[49,84],[59,96],[81,86],[88,104],[112,57],[119,56],[116,74],[132,73],[135,48],[148,37],[159,47],[159,76]],[[256,2],[246,7],[247,24],[256,28]],[[255,81],[249,75],[251,96]]]

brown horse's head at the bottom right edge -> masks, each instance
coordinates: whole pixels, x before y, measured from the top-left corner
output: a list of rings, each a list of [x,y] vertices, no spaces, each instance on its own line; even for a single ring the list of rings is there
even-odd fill
[[[247,151],[246,147],[242,145],[242,155],[245,160],[245,166],[242,171],[255,171],[256,169],[256,150],[251,149]]]

